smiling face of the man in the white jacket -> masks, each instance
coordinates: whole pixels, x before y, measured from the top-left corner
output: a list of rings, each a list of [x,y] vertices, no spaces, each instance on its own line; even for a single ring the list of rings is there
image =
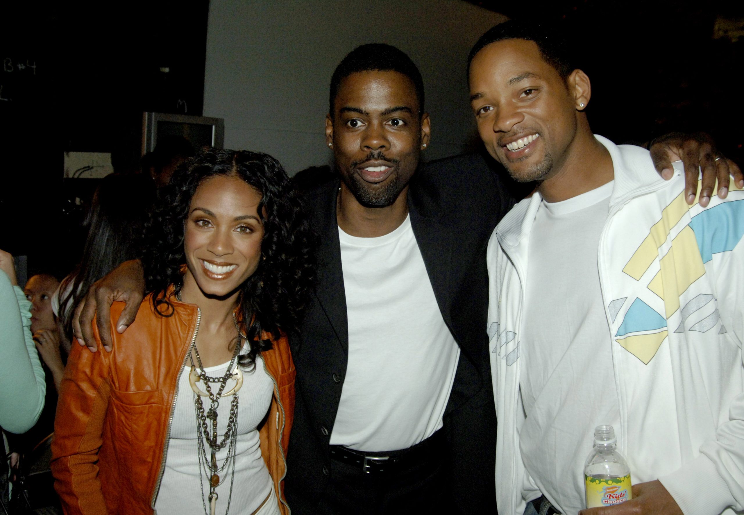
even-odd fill
[[[504,39],[475,54],[469,85],[478,133],[517,181],[547,179],[565,160],[577,132],[571,77],[564,80],[525,39]]]

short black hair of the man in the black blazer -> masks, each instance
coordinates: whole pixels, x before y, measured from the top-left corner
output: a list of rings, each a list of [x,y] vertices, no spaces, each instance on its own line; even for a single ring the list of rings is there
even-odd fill
[[[385,43],[368,43],[354,48],[336,66],[330,77],[330,116],[333,118],[333,101],[339,95],[341,80],[361,71],[397,71],[414,83],[419,101],[419,116],[423,115],[423,79],[421,72],[404,51]]]

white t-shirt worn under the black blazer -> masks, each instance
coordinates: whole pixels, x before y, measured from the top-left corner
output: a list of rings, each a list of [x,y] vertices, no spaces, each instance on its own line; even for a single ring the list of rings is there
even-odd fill
[[[407,449],[433,435],[460,348],[440,313],[411,219],[385,236],[341,231],[349,356],[330,443]]]

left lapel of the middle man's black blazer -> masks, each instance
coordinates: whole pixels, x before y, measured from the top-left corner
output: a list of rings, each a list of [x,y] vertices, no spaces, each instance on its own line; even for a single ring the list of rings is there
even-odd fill
[[[341,269],[339,224],[336,220],[336,198],[339,182],[331,181],[319,191],[321,199],[315,204],[315,228],[320,237],[318,246],[318,287],[315,297],[339,339],[341,348],[349,350],[349,328],[346,313],[344,274]]]

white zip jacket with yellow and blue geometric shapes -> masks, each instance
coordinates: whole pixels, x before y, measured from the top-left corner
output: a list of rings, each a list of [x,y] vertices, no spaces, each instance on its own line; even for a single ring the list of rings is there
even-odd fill
[[[733,514],[730,507],[744,509],[744,191],[732,181],[726,199],[690,207],[680,162],[667,182],[647,150],[596,137],[615,170],[597,263],[619,397],[618,448],[633,483],[659,479],[684,514]],[[487,251],[502,515],[525,509],[519,345],[527,247],[541,200],[535,193],[519,202]]]

